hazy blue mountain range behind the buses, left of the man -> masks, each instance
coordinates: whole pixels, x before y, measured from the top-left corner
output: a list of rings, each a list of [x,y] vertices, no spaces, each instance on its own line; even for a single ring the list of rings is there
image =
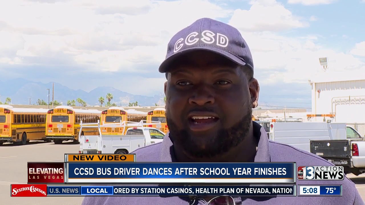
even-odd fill
[[[48,102],[48,90],[50,89],[50,101],[52,101],[52,84],[54,83],[54,100],[66,105],[68,100],[81,98],[87,102],[88,106],[100,105],[99,97],[104,97],[107,102],[106,94],[111,93],[113,99],[111,103],[128,106],[129,102],[138,101],[140,106],[153,106],[155,103],[163,105],[164,94],[151,96],[134,95],[112,87],[97,87],[90,92],[84,90],[73,90],[67,86],[56,82],[42,83],[32,82],[22,78],[0,81],[0,101],[4,102],[5,98],[11,98],[11,104],[36,104],[38,99]]]

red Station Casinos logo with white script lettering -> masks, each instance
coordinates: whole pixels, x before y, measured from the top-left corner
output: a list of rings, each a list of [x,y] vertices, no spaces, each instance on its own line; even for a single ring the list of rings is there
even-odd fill
[[[12,184],[12,197],[46,197],[46,184]]]

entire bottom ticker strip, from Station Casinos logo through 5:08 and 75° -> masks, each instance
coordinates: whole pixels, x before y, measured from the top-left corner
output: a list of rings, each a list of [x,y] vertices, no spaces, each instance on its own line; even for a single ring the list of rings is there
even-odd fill
[[[296,190],[298,187],[298,192]],[[298,195],[296,195],[298,193]],[[12,197],[45,196],[342,196],[342,185],[48,186],[11,185]]]

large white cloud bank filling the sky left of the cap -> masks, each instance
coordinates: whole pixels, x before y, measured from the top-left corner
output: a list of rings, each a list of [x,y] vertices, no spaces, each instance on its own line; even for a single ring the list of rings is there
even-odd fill
[[[62,57],[88,69],[138,72],[135,64],[162,61],[181,28],[230,12],[208,0],[14,0],[0,7],[0,54],[12,54],[1,62]]]

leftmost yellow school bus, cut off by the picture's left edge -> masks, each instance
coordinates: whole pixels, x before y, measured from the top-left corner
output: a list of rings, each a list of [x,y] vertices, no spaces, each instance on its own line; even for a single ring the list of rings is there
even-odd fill
[[[47,111],[0,105],[0,144],[14,142],[24,145],[29,140],[43,140]]]

